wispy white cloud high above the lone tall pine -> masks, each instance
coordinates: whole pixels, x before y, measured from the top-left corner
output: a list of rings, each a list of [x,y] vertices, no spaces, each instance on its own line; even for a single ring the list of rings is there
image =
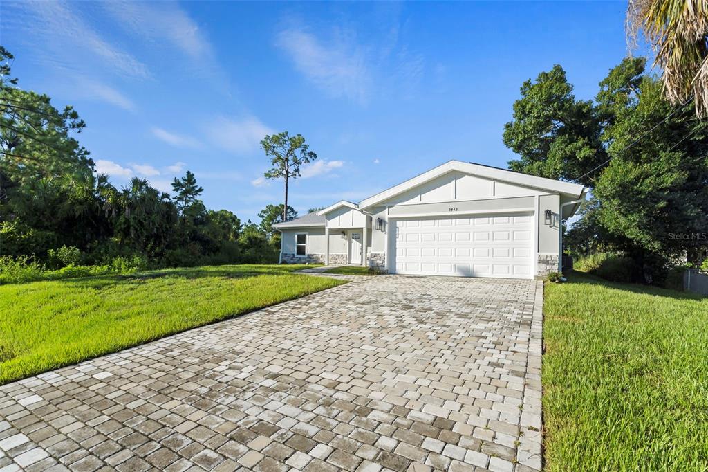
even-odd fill
[[[275,44],[287,52],[295,67],[332,96],[363,103],[372,77],[367,52],[348,37],[321,40],[304,28],[281,30]]]

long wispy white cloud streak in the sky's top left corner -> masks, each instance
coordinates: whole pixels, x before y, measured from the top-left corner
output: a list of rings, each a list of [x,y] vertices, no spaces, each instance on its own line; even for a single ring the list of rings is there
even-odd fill
[[[13,3],[13,28],[23,30],[33,43],[36,57],[65,71],[95,69],[97,62],[105,70],[121,77],[147,79],[151,74],[145,64],[130,53],[105,40],[89,26],[77,11],[81,4],[63,1],[25,1]]]

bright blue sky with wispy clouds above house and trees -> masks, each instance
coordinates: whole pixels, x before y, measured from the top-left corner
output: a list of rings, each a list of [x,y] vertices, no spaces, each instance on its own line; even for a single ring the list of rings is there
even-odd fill
[[[117,186],[169,190],[190,169],[209,208],[258,220],[282,203],[263,135],[318,155],[299,213],[358,201],[449,159],[506,167],[525,79],[561,64],[590,98],[627,54],[626,3],[26,2],[0,4],[25,89],[73,105]]]

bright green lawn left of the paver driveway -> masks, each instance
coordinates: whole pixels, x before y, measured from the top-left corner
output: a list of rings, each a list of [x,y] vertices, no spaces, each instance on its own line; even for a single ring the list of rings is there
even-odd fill
[[[345,283],[237,265],[0,286],[0,384]]]

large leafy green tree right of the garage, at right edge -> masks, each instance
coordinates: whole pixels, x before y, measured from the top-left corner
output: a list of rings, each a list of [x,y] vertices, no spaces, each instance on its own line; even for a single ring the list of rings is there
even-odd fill
[[[644,76],[605,131],[612,159],[594,177],[599,222],[627,238],[642,265],[685,252],[691,259],[696,241],[675,235],[708,232],[708,126],[692,115],[690,105],[671,105],[661,82]],[[639,130],[651,133],[637,139]]]

